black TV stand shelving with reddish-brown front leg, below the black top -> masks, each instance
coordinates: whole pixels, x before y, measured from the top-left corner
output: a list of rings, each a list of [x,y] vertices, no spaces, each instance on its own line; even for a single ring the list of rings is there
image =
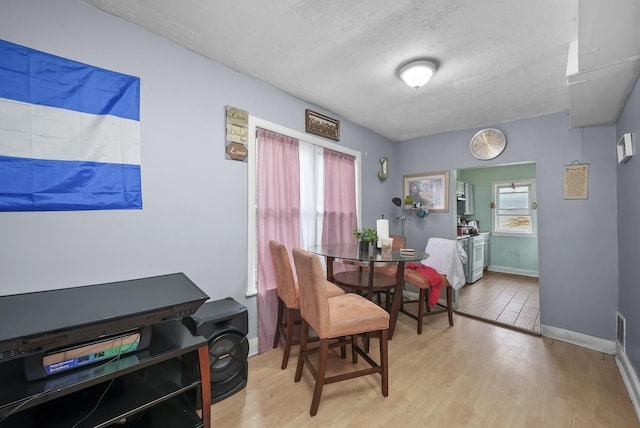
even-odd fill
[[[0,359],[0,428],[209,428],[208,341],[181,319],[150,328],[144,350],[35,381],[23,358]]]

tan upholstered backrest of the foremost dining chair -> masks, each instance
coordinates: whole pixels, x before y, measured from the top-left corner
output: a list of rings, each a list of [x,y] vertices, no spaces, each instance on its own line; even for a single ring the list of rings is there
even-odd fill
[[[330,331],[329,298],[320,259],[301,248],[294,248],[293,262],[300,287],[300,315],[319,337],[327,337]]]

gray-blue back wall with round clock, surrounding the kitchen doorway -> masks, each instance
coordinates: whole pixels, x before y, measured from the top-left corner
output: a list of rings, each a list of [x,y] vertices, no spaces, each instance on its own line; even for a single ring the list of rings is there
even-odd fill
[[[535,162],[541,324],[614,340],[618,307],[615,128],[569,129],[565,113],[497,126],[508,143],[502,155],[491,161],[469,154],[469,140],[477,129],[400,143],[398,163],[390,164],[391,169],[401,170],[393,177],[398,191],[401,174]],[[575,160],[589,164],[587,200],[563,199],[564,167]],[[454,210],[431,213],[426,221],[411,223],[408,243],[422,247],[431,236],[452,238],[454,222]]]

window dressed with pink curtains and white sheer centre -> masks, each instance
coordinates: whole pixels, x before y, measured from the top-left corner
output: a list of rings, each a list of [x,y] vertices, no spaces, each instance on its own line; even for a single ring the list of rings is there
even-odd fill
[[[252,200],[257,202],[256,216],[252,218],[249,215],[249,239],[251,230],[257,230],[258,242],[255,247],[249,244],[248,277],[252,277],[252,269],[257,270],[253,277],[256,278],[255,290],[258,295],[258,348],[259,352],[263,352],[271,346],[277,311],[275,275],[268,241],[278,240],[291,251],[295,247],[308,248],[319,244],[320,239],[327,242],[324,240],[328,230],[331,231],[328,235],[330,239],[338,239],[333,242],[341,242],[345,237],[353,239],[351,233],[357,224],[359,206],[359,191],[356,188],[359,158],[264,129],[260,129],[259,134],[258,147],[253,150],[258,153],[258,161],[254,165],[257,169],[254,178],[258,178],[253,189],[255,192],[251,188],[251,174],[249,181],[249,206],[252,206]],[[270,141],[263,141],[265,136]],[[291,158],[294,151],[290,146],[293,142],[296,146],[295,160]],[[260,144],[268,144],[269,150],[265,152]],[[279,154],[279,149],[284,154]],[[345,151],[353,153],[346,148]],[[292,169],[297,170],[295,174],[290,174]],[[265,171],[269,173],[263,174]],[[290,183],[291,180],[297,182]],[[291,190],[295,186],[299,190],[294,195]],[[270,193],[268,197],[262,193],[265,191]],[[279,194],[281,191],[285,193]],[[254,196],[255,199],[252,199]],[[276,200],[280,201],[276,204]],[[271,205],[263,206],[265,201]],[[292,227],[297,228],[297,235]],[[252,248],[256,249],[255,258],[251,257]],[[252,294],[251,289],[248,291]]]

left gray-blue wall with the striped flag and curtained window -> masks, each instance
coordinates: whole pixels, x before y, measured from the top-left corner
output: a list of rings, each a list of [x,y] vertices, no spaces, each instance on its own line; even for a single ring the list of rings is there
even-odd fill
[[[245,297],[247,164],[225,159],[225,106],[300,132],[306,108],[328,112],[79,0],[3,0],[0,38],[141,78],[144,204],[0,213],[0,295],[184,272],[211,298],[247,305],[257,337]],[[340,131],[363,152],[368,203],[381,204],[390,185],[372,180],[392,143],[345,120]]]

